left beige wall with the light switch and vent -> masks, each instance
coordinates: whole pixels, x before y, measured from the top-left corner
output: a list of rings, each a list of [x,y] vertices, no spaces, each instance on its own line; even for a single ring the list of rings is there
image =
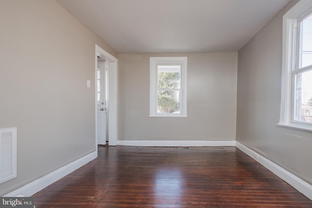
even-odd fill
[[[95,44],[117,54],[54,0],[0,0],[0,28],[0,129],[18,129],[4,195],[95,151]]]

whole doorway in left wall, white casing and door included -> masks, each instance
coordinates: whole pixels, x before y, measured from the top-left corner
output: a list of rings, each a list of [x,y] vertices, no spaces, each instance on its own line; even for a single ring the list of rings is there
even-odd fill
[[[96,45],[96,148],[117,145],[117,58]]]

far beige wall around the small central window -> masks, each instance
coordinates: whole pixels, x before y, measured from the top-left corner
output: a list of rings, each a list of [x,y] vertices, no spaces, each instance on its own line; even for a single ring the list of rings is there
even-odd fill
[[[150,57],[188,57],[187,118],[149,117]],[[237,52],[118,54],[118,140],[235,140]]]

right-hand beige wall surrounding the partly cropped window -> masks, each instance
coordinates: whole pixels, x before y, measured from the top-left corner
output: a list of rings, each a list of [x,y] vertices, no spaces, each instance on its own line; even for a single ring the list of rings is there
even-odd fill
[[[312,184],[312,132],[276,126],[280,114],[282,16],[238,52],[236,140]]]

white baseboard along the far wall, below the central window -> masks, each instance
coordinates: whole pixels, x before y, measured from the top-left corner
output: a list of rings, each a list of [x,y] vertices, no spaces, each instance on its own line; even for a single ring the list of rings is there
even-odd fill
[[[181,141],[181,140],[118,140],[117,145],[139,147],[208,147],[235,146],[235,141]]]

